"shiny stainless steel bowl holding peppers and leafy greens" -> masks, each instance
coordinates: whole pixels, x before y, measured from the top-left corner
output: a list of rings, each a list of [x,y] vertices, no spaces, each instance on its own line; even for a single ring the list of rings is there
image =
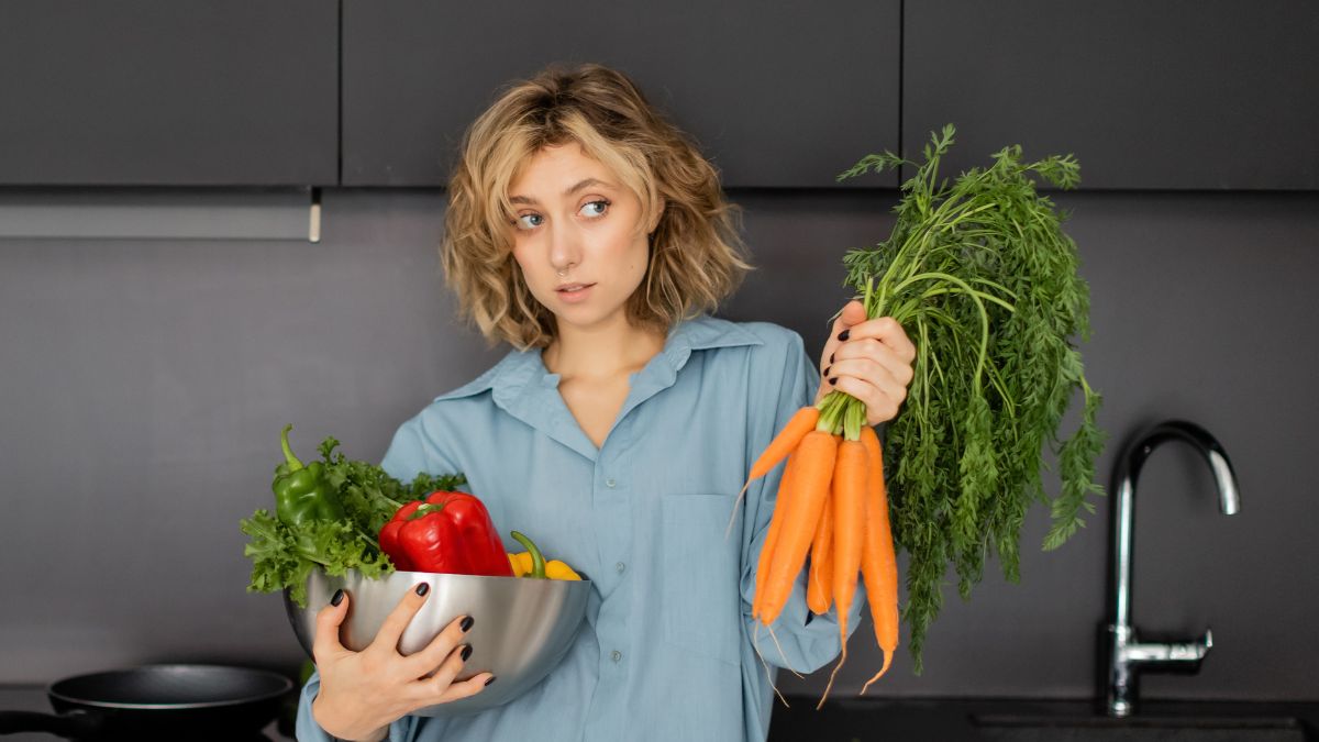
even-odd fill
[[[344,647],[361,651],[375,639],[380,624],[398,601],[419,582],[430,584],[430,594],[398,642],[398,651],[419,651],[460,615],[474,619],[466,643],[472,654],[464,663],[471,677],[495,673],[499,683],[480,693],[427,706],[418,716],[454,716],[506,704],[543,679],[563,658],[586,618],[591,582],[587,580],[529,580],[481,577],[476,574],[434,574],[396,572],[384,580],[367,580],[356,572],[328,577],[321,570],[307,578],[307,607],[301,609],[284,595],[293,631],[302,648],[311,654],[317,613],[335,590],[348,593],[348,617],[340,628]]]

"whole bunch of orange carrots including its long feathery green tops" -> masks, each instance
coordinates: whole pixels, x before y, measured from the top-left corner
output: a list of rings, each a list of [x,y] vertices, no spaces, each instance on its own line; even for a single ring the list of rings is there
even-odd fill
[[[1062,230],[1064,215],[1037,190],[1037,181],[1075,186],[1080,166],[1070,154],[1024,161],[1012,145],[992,165],[950,182],[938,166],[954,133],[951,124],[931,132],[925,162],[885,152],[839,176],[915,169],[889,239],[843,260],[867,317],[892,317],[917,346],[915,378],[888,429],[892,524],[880,442],[865,425],[865,404],[843,392],[798,411],[751,471],[754,479],[787,459],[756,574],[754,618],[765,626],[778,618],[809,555],[810,609],[838,607],[836,676],[847,661],[845,622],[860,572],[884,651],[865,688],[888,671],[898,643],[894,541],[909,555],[902,621],[919,673],[950,566],[963,598],[992,553],[1016,581],[1028,508],[1050,504],[1043,545],[1054,549],[1083,525],[1083,512],[1093,512],[1087,498],[1101,492],[1100,395],[1072,343],[1088,335],[1089,292],[1076,244]],[[1074,396],[1084,400],[1080,425],[1063,440],[1059,426]],[[1041,482],[1045,446],[1058,461],[1057,498]]]

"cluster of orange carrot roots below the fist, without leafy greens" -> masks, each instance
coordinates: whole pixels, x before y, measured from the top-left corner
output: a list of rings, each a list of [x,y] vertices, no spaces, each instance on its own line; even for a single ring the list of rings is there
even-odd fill
[[[756,572],[752,617],[766,627],[778,618],[809,553],[807,605],[815,614],[838,606],[843,647],[820,698],[823,705],[847,661],[847,615],[857,573],[865,582],[874,638],[884,651],[884,665],[861,693],[888,672],[898,646],[898,570],[884,452],[874,429],[865,424],[865,405],[843,392],[831,392],[819,405],[797,411],[756,459],[748,486],[785,458],[774,518]]]

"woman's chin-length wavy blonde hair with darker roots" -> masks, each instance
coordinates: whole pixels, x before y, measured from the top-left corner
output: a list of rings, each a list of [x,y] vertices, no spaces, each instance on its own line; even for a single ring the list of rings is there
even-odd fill
[[[554,339],[553,313],[513,259],[508,191],[537,152],[574,141],[641,201],[638,228],[657,224],[645,277],[627,305],[634,326],[667,331],[737,289],[751,264],[740,210],[725,201],[715,168],[623,73],[554,66],[506,87],[472,123],[448,184],[445,277],[491,345],[528,350]]]

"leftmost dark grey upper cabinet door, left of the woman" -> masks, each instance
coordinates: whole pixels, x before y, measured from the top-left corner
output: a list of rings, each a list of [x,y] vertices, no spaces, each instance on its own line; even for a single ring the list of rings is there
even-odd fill
[[[335,0],[4,0],[0,185],[338,182]]]

